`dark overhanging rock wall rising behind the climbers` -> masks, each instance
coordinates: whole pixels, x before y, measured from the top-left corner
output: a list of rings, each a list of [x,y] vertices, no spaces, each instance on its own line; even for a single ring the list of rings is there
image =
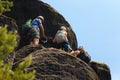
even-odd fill
[[[19,27],[19,34],[25,35],[21,32],[21,26],[28,19],[34,19],[35,17],[42,15],[45,18],[44,28],[47,37],[53,38],[60,25],[65,25],[68,31],[68,39],[73,49],[77,48],[76,35],[73,32],[70,24],[50,5],[43,3],[40,0],[11,0],[14,2],[14,6],[10,12],[4,13],[5,15],[12,17],[16,20]],[[27,45],[26,39],[20,40],[19,48]],[[21,44],[22,43],[22,44]],[[50,45],[51,43],[48,43]]]

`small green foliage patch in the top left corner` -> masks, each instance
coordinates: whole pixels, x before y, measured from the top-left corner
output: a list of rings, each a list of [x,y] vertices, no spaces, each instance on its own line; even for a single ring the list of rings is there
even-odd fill
[[[10,7],[13,6],[13,3],[8,0],[0,0],[0,14],[6,11],[10,11]]]

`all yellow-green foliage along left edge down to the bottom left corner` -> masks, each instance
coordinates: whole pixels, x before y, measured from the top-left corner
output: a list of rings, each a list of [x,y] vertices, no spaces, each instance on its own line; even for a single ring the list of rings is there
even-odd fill
[[[6,27],[0,26],[0,80],[33,80],[35,71],[27,72],[32,60],[31,55],[21,62],[15,71],[11,70],[10,63],[3,61],[5,55],[14,50],[16,43],[15,33],[7,32]]]

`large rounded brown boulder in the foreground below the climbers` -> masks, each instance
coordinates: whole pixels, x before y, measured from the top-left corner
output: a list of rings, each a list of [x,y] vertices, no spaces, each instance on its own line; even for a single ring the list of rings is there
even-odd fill
[[[35,80],[99,80],[84,61],[55,48],[23,47],[15,52],[13,69],[29,54],[33,59],[28,71],[36,70]]]

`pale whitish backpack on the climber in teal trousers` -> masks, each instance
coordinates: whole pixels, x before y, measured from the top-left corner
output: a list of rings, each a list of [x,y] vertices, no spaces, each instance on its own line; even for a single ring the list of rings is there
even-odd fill
[[[62,31],[56,33],[55,40],[57,43],[68,42],[67,36]]]

